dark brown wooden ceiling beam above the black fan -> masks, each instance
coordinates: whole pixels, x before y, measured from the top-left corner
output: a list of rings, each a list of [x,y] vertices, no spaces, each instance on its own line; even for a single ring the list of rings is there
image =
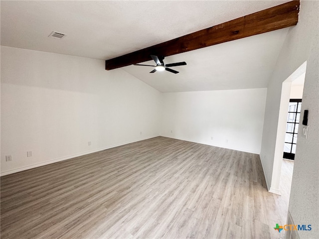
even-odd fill
[[[105,69],[112,70],[149,61],[152,60],[151,55],[171,56],[294,26],[298,22],[299,6],[300,0],[289,1],[123,56],[106,60]]]

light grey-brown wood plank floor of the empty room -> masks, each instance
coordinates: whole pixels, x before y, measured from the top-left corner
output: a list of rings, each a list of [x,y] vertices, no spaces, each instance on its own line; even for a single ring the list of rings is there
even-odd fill
[[[259,156],[155,137],[1,177],[1,239],[284,238]]]

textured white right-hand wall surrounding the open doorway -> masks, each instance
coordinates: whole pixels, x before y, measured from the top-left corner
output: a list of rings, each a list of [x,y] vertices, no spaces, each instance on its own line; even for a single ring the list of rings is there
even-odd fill
[[[299,22],[291,27],[268,85],[261,159],[268,184],[273,185],[274,158],[282,83],[304,62],[307,71],[302,111],[309,110],[308,138],[298,137],[289,212],[295,224],[312,225],[298,231],[301,238],[319,238],[319,2],[301,1]],[[303,115],[302,115],[303,116]],[[302,128],[299,128],[301,133]],[[271,181],[270,181],[271,180]]]

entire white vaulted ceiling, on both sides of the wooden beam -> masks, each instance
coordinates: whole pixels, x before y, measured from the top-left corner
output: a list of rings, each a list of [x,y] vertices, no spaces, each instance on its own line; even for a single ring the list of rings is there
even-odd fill
[[[1,0],[1,45],[106,60],[284,2]],[[67,36],[48,37],[53,30]],[[122,69],[161,92],[267,87],[287,31],[166,57],[186,61],[179,74]]]

